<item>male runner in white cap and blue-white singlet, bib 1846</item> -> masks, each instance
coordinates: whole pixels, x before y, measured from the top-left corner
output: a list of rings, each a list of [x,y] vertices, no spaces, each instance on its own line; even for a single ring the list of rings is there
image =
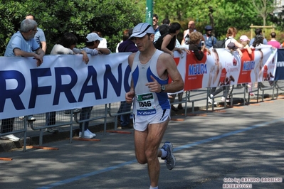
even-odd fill
[[[170,119],[167,92],[182,90],[184,82],[174,58],[154,48],[154,29],[149,23],[135,26],[130,38],[135,38],[139,50],[128,57],[132,80],[125,95],[127,103],[133,102],[135,155],[138,163],[147,163],[150,188],[158,188],[158,157],[165,160],[169,170],[176,164],[172,143],[166,141],[159,148]]]

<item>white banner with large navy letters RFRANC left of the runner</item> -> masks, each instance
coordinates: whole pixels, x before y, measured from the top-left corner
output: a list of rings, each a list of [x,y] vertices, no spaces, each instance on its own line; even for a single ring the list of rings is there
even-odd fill
[[[46,55],[43,64],[0,57],[0,119],[125,100],[130,88],[130,53]],[[11,116],[12,115],[12,116]]]

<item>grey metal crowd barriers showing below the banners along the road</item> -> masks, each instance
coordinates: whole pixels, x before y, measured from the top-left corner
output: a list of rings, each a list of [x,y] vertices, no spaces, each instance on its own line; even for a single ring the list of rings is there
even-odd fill
[[[284,91],[284,81],[277,81],[273,82],[273,87],[261,87],[261,85],[258,85],[257,91],[258,95],[259,92],[262,91],[262,99],[264,98],[264,91],[265,90],[271,90],[273,89],[273,98],[274,98],[274,90],[276,91],[276,95],[278,97],[279,90]],[[254,92],[251,91],[251,92]],[[228,93],[228,87],[226,87],[226,94]],[[234,90],[233,93],[231,94],[231,105],[233,103],[233,95],[242,95],[243,94],[243,104],[246,102],[246,93],[248,93],[248,85],[245,85],[243,87],[243,90]],[[184,95],[185,94],[185,95]],[[194,113],[194,102],[206,100],[206,111],[209,109],[209,103],[208,103],[208,97],[210,94],[210,88],[206,89],[200,89],[200,90],[191,90],[191,91],[186,91],[182,95],[182,101],[179,101],[177,99],[174,99],[171,104],[179,104],[179,103],[185,103],[184,111],[185,111],[185,116],[186,116],[186,111],[187,111],[187,102],[192,103],[191,107],[191,112]],[[222,97],[222,95],[215,96],[216,97]],[[250,95],[248,95],[248,103],[250,100]],[[213,99],[214,101],[214,99]],[[19,117],[16,117],[14,119],[14,130],[11,132],[6,132],[6,133],[1,133],[0,136],[5,136],[7,134],[19,134],[23,133],[23,136],[21,135],[20,137],[23,137],[23,151],[26,151],[26,134],[27,134],[27,127],[31,126],[31,129],[33,130],[39,130],[39,144],[43,144],[43,129],[48,129],[51,127],[59,127],[59,126],[68,126],[68,131],[70,131],[70,143],[72,142],[72,137],[73,137],[73,124],[83,124],[82,125],[82,130],[85,128],[85,124],[87,121],[89,122],[94,122],[99,119],[103,119],[103,124],[104,124],[104,134],[106,133],[106,127],[107,127],[107,118],[113,119],[115,117],[115,130],[117,130],[117,117],[121,116],[122,114],[131,114],[132,113],[132,107],[125,111],[125,109],[120,109],[120,103],[121,102],[113,102],[110,104],[102,104],[102,105],[96,105],[93,107],[93,109],[90,111],[90,118],[88,119],[80,119],[78,116],[80,115],[79,112],[74,113],[73,109],[70,110],[70,114],[65,114],[65,111],[58,111],[56,112],[56,123],[54,124],[49,124],[47,123],[47,117],[46,113],[44,114],[35,114],[34,117],[36,118],[36,121],[27,121],[26,117],[25,119],[21,120]],[[224,107],[226,108],[226,104],[224,103]],[[205,104],[204,104],[205,105]],[[119,111],[120,110],[120,111]],[[212,105],[212,110],[214,110],[214,105]],[[107,114],[110,115],[110,117],[107,116]],[[74,120],[73,120],[74,117]],[[112,120],[111,120],[112,121]],[[98,121],[99,122],[99,121]],[[97,123],[98,123],[97,122]],[[100,122],[101,123],[101,122]],[[64,128],[63,128],[64,129]]]

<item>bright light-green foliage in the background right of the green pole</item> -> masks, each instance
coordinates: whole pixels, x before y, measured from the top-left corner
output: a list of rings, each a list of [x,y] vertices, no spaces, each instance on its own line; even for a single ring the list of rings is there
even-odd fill
[[[179,21],[182,25],[181,33],[187,29],[187,23],[192,19],[196,23],[197,31],[204,33],[204,26],[211,24],[214,26],[215,36],[224,38],[230,26],[249,31],[251,23],[257,26],[263,25],[263,18],[253,5],[253,1],[262,7],[262,2],[265,0],[191,0],[170,1],[167,4],[162,0],[156,0],[154,13],[159,15],[160,22],[164,18],[169,18],[172,22]],[[213,23],[210,21],[209,7],[213,10]],[[268,7],[271,12],[269,3]],[[268,21],[268,25],[270,24],[271,22]]]

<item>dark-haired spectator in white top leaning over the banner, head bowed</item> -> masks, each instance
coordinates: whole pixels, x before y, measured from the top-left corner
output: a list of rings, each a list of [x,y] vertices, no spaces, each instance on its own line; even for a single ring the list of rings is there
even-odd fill
[[[78,38],[73,33],[64,33],[63,37],[58,44],[54,45],[51,50],[51,55],[75,55],[83,54],[83,62],[88,64],[89,58],[85,50],[80,50],[75,48],[77,45]],[[74,109],[73,113],[79,112],[79,109]],[[70,114],[70,110],[65,112],[65,114]],[[54,125],[56,124],[56,112],[47,112],[46,113],[46,124]],[[57,133],[58,129],[56,127],[46,128],[46,131],[50,133]]]

